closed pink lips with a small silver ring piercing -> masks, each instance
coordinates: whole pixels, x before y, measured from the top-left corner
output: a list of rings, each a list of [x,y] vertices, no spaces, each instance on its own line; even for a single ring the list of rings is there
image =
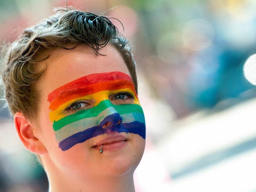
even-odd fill
[[[118,150],[126,146],[127,140],[127,137],[123,135],[109,136],[97,142],[92,148],[100,150],[101,145],[103,145],[103,151]]]

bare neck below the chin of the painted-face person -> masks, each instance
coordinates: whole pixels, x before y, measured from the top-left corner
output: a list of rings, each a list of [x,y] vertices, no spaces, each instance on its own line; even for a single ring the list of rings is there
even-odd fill
[[[135,192],[133,171],[124,174],[100,174],[89,176],[65,174],[56,167],[44,167],[49,180],[49,192]]]

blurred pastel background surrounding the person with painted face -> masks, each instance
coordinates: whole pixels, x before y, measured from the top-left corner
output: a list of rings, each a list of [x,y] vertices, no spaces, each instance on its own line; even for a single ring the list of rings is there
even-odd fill
[[[64,5],[64,0],[0,0],[0,46]],[[68,0],[68,5],[118,18],[124,31],[112,21],[133,45],[147,126],[145,154],[134,175],[137,192],[256,192],[255,0]],[[3,108],[0,192],[47,189],[42,167],[18,140]]]

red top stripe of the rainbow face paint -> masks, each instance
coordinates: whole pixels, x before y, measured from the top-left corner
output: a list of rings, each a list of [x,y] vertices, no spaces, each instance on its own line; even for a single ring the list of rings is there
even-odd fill
[[[60,86],[56,90],[50,92],[50,94],[48,94],[48,101],[52,102],[56,98],[58,98],[64,94],[67,94],[67,93],[72,94],[72,92],[77,92],[78,90],[81,90],[81,89],[90,88],[90,85],[92,85],[92,84],[97,84],[100,82],[111,82],[111,81],[115,81],[115,80],[123,80],[126,82],[127,81],[132,82],[132,79],[130,78],[129,75],[122,73],[122,72],[118,72],[118,71],[90,74],[88,76],[78,78],[78,79],[76,79],[72,82],[69,82],[63,86]],[[132,84],[133,84],[133,82],[132,82]],[[104,88],[100,88],[100,89],[106,90]]]

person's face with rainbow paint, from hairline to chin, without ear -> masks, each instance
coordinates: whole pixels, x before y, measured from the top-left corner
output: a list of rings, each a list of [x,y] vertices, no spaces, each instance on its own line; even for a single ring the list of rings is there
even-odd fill
[[[53,50],[37,84],[44,166],[76,179],[133,172],[144,151],[144,115],[126,64],[112,46],[101,53]]]

